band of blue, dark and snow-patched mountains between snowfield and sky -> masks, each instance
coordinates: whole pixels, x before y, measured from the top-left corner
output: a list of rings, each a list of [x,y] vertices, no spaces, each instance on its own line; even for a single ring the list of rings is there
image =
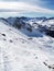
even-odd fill
[[[20,29],[28,36],[39,36],[44,33],[54,37],[54,17],[0,17],[0,21],[7,22],[8,25]]]

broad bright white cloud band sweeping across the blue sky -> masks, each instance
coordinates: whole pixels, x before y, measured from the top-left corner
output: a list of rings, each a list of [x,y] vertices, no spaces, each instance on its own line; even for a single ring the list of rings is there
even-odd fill
[[[54,14],[54,10],[44,9],[39,5],[32,5],[25,2],[0,2],[0,9],[11,10],[18,13],[39,12],[39,13]]]

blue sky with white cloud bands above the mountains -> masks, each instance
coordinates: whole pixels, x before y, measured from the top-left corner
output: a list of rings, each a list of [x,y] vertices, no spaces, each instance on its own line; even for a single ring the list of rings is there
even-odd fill
[[[0,0],[0,16],[54,16],[54,0]]]

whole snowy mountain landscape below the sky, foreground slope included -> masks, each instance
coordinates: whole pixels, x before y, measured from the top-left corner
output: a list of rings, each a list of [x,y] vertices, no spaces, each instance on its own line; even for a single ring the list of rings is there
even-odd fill
[[[54,71],[54,38],[46,35],[53,23],[45,17],[0,17],[0,71]]]

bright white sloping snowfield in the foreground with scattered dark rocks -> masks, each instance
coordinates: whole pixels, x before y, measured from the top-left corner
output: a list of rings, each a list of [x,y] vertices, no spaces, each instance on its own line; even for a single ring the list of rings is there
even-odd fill
[[[45,37],[31,39],[0,22],[0,71],[54,71],[54,54],[45,50],[50,39]]]

